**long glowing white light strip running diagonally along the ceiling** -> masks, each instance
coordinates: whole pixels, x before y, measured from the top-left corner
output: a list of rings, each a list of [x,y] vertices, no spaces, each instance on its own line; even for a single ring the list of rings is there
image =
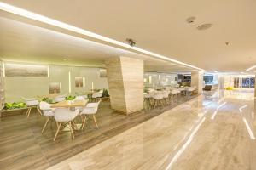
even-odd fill
[[[109,37],[103,37],[103,36],[101,36],[99,34],[96,34],[94,32],[86,31],[86,30],[81,29],[79,27],[71,26],[71,25],[68,25],[64,22],[61,22],[61,21],[58,21],[58,20],[53,20],[53,19],[50,19],[50,18],[45,17],[45,16],[40,15],[40,14],[32,13],[30,11],[27,11],[27,10],[23,9],[23,8],[17,8],[15,6],[9,5],[7,3],[0,2],[0,9],[3,10],[3,11],[6,11],[6,12],[12,13],[12,14],[18,14],[20,16],[26,17],[26,18],[31,19],[31,20],[38,20],[38,21],[43,22],[45,24],[48,24],[50,26],[57,26],[59,28],[66,29],[68,31],[73,31],[73,32],[82,34],[84,36],[93,37],[93,38],[96,38],[98,40],[102,40],[104,42],[110,42],[112,44],[119,45],[119,46],[124,47],[124,48],[129,48],[129,49],[135,50],[135,51],[143,53],[143,54],[148,54],[150,56],[153,56],[154,58],[165,59],[167,61],[171,61],[171,62],[179,64],[179,65],[185,65],[185,66],[194,68],[194,69],[199,70],[199,71],[205,71],[205,70],[203,70],[199,67],[196,67],[194,65],[189,65],[189,64],[183,63],[181,61],[178,61],[176,59],[170,59],[170,58],[168,58],[164,55],[155,54],[155,53],[150,52],[148,50],[145,50],[143,48],[131,47],[130,45],[128,45],[124,42],[119,42],[119,41],[113,40]]]

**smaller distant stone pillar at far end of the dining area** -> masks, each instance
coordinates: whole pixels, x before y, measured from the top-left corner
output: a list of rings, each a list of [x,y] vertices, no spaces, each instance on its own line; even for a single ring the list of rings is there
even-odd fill
[[[204,88],[203,82],[203,71],[191,71],[191,87],[196,87],[198,94],[202,93],[202,88]]]

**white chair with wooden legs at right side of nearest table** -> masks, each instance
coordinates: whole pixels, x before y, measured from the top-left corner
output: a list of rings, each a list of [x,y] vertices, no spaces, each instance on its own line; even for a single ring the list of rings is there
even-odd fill
[[[96,124],[96,127],[99,128],[98,124],[96,122],[96,116],[95,115],[96,115],[96,112],[98,111],[98,107],[99,107],[100,103],[101,103],[101,100],[99,100],[96,103],[89,103],[89,104],[87,104],[84,107],[83,111],[81,111],[81,113],[80,113],[80,116],[82,118],[81,129],[84,129],[84,125],[85,125],[85,121],[86,121],[86,116],[92,116],[93,120],[94,120],[94,122]]]

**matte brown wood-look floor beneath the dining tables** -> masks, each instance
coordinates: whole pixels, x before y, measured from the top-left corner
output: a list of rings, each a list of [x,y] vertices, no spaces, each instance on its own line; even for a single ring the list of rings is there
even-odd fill
[[[188,99],[183,97],[177,104],[163,109],[140,111],[129,116],[118,114],[110,109],[108,103],[103,103],[96,114],[100,129],[97,130],[93,122],[88,122],[84,132],[75,133],[74,140],[70,133],[61,133],[55,142],[52,141],[54,123],[51,129],[46,128],[44,135],[41,133],[44,116],[32,113],[26,119],[25,113],[3,115],[0,119],[0,169],[45,169],[192,98],[195,96]]]

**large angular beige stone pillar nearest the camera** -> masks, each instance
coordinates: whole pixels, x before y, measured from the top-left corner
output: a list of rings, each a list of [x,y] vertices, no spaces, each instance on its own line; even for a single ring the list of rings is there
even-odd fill
[[[106,60],[111,108],[125,114],[143,110],[143,60]]]

